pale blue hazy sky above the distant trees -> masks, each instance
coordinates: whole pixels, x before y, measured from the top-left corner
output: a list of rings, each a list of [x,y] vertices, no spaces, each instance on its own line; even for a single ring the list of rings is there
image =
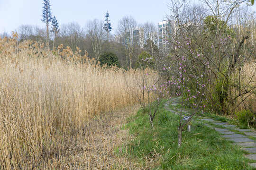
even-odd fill
[[[146,21],[157,24],[165,19],[168,13],[169,0],[50,0],[51,12],[56,16],[59,25],[70,21],[78,22],[82,27],[88,20],[105,19],[110,13],[113,29],[118,20],[128,15],[138,23]],[[10,34],[21,24],[44,27],[41,21],[43,0],[0,0],[0,33]],[[256,10],[256,5],[254,5]]]

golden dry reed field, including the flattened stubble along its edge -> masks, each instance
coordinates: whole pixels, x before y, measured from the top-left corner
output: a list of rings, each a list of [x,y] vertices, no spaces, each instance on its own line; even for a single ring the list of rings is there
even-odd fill
[[[113,150],[117,125],[135,109],[112,111],[137,102],[127,83],[139,73],[101,68],[79,49],[73,53],[60,45],[50,51],[43,43],[13,37],[0,39],[0,169],[129,164]]]

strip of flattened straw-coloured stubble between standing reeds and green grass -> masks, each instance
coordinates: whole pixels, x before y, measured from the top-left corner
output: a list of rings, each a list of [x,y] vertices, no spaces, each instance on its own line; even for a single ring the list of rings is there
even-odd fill
[[[132,136],[121,127],[135,114],[139,106],[95,116],[83,129],[74,129],[62,135],[62,144],[53,153],[47,153],[42,169],[65,170],[142,170],[150,169],[126,154],[117,154]],[[59,145],[59,144],[58,144]],[[127,152],[124,149],[123,152]],[[47,167],[47,168],[43,168]],[[38,167],[37,167],[38,168]],[[41,169],[39,168],[39,169]]]

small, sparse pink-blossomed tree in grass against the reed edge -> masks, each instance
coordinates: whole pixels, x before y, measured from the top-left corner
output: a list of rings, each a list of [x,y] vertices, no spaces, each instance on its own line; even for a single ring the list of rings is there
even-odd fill
[[[166,93],[169,93],[168,82],[163,83],[164,72],[157,70],[159,64],[162,64],[160,56],[142,51],[138,56],[137,69],[133,69],[136,78],[132,84],[127,83],[129,93],[137,97],[143,111],[148,113],[152,128],[160,103],[166,98]]]

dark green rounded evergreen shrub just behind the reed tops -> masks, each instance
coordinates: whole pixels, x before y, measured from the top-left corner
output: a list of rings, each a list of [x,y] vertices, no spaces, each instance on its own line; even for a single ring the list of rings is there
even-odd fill
[[[117,66],[120,68],[118,57],[113,52],[104,52],[101,54],[99,61],[101,62],[101,66],[107,64],[108,67]]]

